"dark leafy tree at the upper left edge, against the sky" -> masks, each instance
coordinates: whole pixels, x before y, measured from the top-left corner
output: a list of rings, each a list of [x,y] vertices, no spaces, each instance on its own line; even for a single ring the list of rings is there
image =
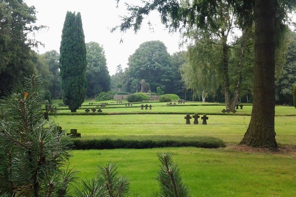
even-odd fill
[[[30,33],[36,26],[36,10],[22,0],[0,1],[0,97],[22,82],[22,75],[34,73],[30,47],[38,42]]]

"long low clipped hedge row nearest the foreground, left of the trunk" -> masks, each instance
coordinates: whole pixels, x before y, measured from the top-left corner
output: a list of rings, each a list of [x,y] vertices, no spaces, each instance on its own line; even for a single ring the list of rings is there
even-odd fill
[[[198,147],[220,148],[225,143],[220,139],[211,138],[209,141],[177,141],[177,140],[123,140],[123,139],[73,139],[74,149],[149,149],[163,147]]]

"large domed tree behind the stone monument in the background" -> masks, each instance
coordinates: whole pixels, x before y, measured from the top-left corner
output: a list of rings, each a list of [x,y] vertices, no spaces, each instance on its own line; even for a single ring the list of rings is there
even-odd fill
[[[124,74],[124,86],[127,92],[135,92],[135,86],[145,79],[152,92],[156,87],[163,87],[164,92],[170,92],[174,73],[172,59],[163,42],[148,41],[142,43],[128,58],[128,69]]]

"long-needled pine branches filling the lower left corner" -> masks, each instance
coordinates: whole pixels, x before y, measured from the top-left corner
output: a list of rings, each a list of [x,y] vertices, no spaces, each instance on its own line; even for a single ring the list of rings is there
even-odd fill
[[[71,142],[44,119],[41,84],[36,75],[25,78],[1,100],[0,196],[65,196],[74,180],[76,171],[66,167]]]

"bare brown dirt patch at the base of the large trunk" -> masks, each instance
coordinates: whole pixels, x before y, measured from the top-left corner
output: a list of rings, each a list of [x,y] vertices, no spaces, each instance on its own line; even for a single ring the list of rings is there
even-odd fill
[[[225,150],[249,153],[287,154],[296,158],[296,145],[279,145],[276,149],[269,147],[253,148],[246,145],[227,144]]]

